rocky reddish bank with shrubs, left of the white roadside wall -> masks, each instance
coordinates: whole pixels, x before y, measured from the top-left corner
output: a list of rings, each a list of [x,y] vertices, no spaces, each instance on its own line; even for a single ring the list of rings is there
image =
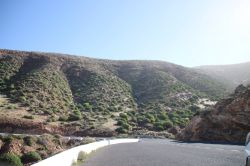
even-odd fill
[[[32,165],[65,149],[93,141],[94,139],[87,137],[83,140],[69,140],[60,135],[49,134],[0,136],[0,165]]]

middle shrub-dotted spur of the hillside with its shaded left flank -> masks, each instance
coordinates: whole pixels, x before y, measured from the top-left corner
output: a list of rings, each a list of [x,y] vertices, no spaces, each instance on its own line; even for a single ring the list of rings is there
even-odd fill
[[[135,109],[130,86],[112,73],[91,71],[77,65],[65,73],[80,110],[117,112]]]

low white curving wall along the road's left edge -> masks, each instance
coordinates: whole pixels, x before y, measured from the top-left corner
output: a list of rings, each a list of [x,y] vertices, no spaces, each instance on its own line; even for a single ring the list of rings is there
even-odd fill
[[[119,143],[133,143],[138,141],[139,139],[114,139],[114,140],[103,140],[86,145],[81,145],[75,148],[71,148],[69,150],[65,150],[45,160],[42,160],[36,164],[33,164],[32,166],[52,166],[52,165],[71,166],[74,161],[77,161],[78,154],[81,151],[88,154],[98,148],[107,145],[113,145]]]

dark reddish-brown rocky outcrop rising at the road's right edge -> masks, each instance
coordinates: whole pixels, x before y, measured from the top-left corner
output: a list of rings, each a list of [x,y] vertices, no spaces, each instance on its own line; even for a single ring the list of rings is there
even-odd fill
[[[250,132],[250,86],[240,85],[234,94],[211,110],[195,116],[178,140],[244,143]]]

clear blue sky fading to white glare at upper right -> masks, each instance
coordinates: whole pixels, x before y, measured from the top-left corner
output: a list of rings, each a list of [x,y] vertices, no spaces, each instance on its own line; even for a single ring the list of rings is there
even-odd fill
[[[250,61],[250,0],[1,0],[0,48],[184,66]]]

